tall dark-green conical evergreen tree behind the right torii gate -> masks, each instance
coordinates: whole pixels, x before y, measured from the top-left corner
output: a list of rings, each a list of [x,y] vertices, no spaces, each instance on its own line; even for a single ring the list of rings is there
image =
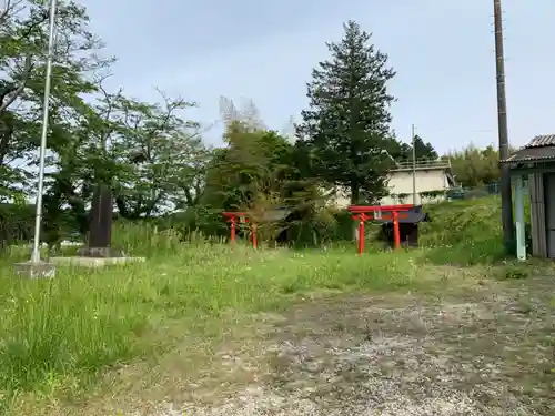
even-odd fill
[[[374,202],[387,194],[392,161],[384,150],[394,98],[386,83],[395,71],[371,33],[354,21],[343,27],[342,41],[327,43],[331,59],[312,72],[310,108],[302,112],[297,135],[311,148],[316,177],[349,189],[352,203]]]

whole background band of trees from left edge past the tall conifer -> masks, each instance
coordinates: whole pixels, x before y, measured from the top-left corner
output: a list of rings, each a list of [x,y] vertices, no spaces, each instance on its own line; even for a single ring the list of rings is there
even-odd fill
[[[31,234],[49,14],[40,0],[6,4],[0,10],[4,243],[14,234]],[[387,172],[395,162],[412,160],[412,144],[398,141],[391,128],[395,99],[389,82],[395,71],[372,34],[354,21],[344,24],[343,39],[330,42],[330,58],[314,68],[309,105],[297,124],[292,118],[279,133],[264,124],[252,101],[238,106],[222,97],[225,128],[219,148],[204,142],[209,126],[191,119],[192,98],[158,91],[159,99],[147,102],[108,87],[115,59],[105,55],[83,7],[60,0],[57,24],[43,196],[47,241],[85,235],[100,184],[111,187],[114,213],[124,220],[184,213],[186,226],[199,227],[221,222],[223,210],[287,206],[322,224],[327,190],[341,187],[354,203],[373,203],[387,194]],[[420,160],[437,159],[420,136],[415,153]],[[493,149],[472,148],[448,158],[465,185],[498,176]],[[13,206],[26,207],[18,220],[23,227],[8,224],[19,212]]]

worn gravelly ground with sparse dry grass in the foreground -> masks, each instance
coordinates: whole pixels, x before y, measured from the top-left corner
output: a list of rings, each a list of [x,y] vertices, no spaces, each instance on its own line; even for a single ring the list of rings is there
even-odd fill
[[[84,408],[52,410],[555,415],[554,286],[555,277],[534,277],[481,281],[442,297],[312,296],[282,314],[230,323],[208,361],[208,347],[188,344],[148,368],[121,369],[107,381],[111,394]]]

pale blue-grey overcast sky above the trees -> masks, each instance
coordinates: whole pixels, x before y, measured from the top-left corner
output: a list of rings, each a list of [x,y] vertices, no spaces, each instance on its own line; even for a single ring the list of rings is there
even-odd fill
[[[438,151],[497,141],[492,0],[81,0],[119,58],[113,87],[155,100],[153,87],[219,119],[218,99],[252,99],[282,130],[306,105],[311,69],[342,23],[356,20],[397,71],[394,129],[411,124]],[[555,1],[504,0],[509,140],[555,133]],[[219,142],[218,129],[208,140]]]

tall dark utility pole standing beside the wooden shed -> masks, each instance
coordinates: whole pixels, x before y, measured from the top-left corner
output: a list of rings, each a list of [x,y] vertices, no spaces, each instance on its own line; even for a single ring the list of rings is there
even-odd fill
[[[508,154],[507,99],[505,92],[505,53],[503,50],[503,16],[501,0],[493,0],[493,18],[495,31],[495,68],[497,78],[497,128],[500,135],[500,159]],[[513,251],[513,197],[511,190],[511,171],[506,163],[501,165],[501,215],[503,224],[503,243],[505,251]]]

